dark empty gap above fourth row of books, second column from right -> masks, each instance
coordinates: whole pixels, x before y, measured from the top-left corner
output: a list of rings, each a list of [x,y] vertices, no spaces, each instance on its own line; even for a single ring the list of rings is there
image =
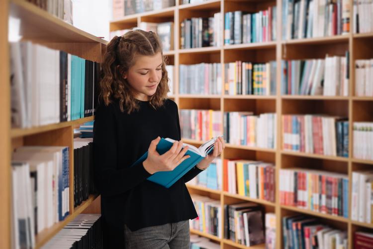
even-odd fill
[[[347,159],[347,158],[346,158]],[[312,169],[348,175],[348,162],[281,154],[282,169]]]

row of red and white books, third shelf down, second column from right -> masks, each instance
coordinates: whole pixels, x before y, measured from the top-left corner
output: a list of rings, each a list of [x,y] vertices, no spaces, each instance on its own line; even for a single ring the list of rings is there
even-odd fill
[[[349,155],[349,123],[320,115],[283,115],[283,150],[321,155]]]

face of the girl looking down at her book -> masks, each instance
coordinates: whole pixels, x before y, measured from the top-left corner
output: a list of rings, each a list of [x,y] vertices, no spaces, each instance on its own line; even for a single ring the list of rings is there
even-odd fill
[[[149,101],[150,97],[157,91],[162,78],[162,55],[157,53],[153,56],[139,55],[136,63],[124,74],[124,79],[132,87],[137,100]]]

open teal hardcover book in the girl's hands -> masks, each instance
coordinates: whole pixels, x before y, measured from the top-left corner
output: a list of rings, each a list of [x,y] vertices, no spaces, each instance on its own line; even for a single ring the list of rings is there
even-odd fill
[[[207,154],[209,154],[213,150],[214,143],[217,138],[218,136],[211,138],[198,148],[193,145],[183,143],[184,146],[189,147],[185,154],[189,155],[190,157],[185,159],[174,170],[156,172],[150,177],[148,177],[148,180],[158,183],[166,188],[171,187],[176,181],[183,177],[183,175],[185,175],[192,167],[194,167],[194,165],[200,162]],[[157,152],[160,155],[167,152],[175,141],[176,140],[171,138],[161,138],[157,145]],[[141,164],[143,161],[145,161],[147,157],[148,152],[142,155],[135,163],[132,164],[132,166]]]

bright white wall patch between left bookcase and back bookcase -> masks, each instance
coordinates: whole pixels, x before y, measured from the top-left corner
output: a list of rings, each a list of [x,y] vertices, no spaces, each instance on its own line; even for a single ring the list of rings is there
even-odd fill
[[[109,40],[112,0],[72,0],[73,23],[95,36]]]

